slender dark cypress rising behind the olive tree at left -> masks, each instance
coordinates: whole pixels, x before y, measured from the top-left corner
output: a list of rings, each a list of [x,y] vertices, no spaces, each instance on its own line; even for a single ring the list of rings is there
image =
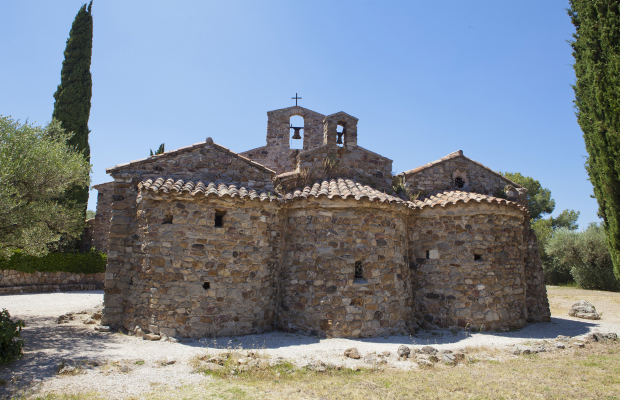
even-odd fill
[[[66,132],[72,132],[68,142],[82,152],[90,162],[88,145],[88,118],[90,116],[90,99],[92,97],[92,78],[90,60],[93,51],[93,16],[91,1],[78,11],[71,26],[65,60],[60,72],[60,85],[54,93],[54,113],[52,118],[60,121]],[[84,213],[88,203],[88,186],[74,187],[66,193],[66,200],[83,204]]]

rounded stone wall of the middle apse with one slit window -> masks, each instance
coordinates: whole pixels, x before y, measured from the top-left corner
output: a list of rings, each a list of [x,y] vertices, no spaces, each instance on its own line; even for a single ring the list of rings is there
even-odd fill
[[[409,332],[406,208],[395,207],[324,197],[288,206],[279,328],[330,337]]]

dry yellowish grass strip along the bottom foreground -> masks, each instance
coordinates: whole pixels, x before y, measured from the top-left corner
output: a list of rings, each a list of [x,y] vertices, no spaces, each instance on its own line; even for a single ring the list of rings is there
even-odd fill
[[[291,372],[292,371],[292,372]],[[291,364],[237,375],[225,374],[199,387],[167,388],[152,399],[618,399],[620,344],[480,360],[457,366],[435,364],[404,372]]]

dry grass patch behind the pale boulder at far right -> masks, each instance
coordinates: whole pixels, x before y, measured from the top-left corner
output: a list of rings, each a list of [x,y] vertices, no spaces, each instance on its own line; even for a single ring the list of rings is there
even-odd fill
[[[587,300],[596,306],[596,311],[603,313],[605,321],[620,323],[620,293],[547,286],[547,295],[551,315],[554,317],[566,317],[574,302]]]

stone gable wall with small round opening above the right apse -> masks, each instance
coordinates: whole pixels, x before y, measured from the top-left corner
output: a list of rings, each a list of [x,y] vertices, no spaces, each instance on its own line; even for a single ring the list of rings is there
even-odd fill
[[[465,181],[464,187],[458,188],[455,185],[456,176],[460,176]],[[406,173],[405,185],[412,193],[423,191],[428,194],[436,190],[462,190],[495,196],[499,190],[512,183],[464,157],[457,157],[439,162],[419,172]]]

